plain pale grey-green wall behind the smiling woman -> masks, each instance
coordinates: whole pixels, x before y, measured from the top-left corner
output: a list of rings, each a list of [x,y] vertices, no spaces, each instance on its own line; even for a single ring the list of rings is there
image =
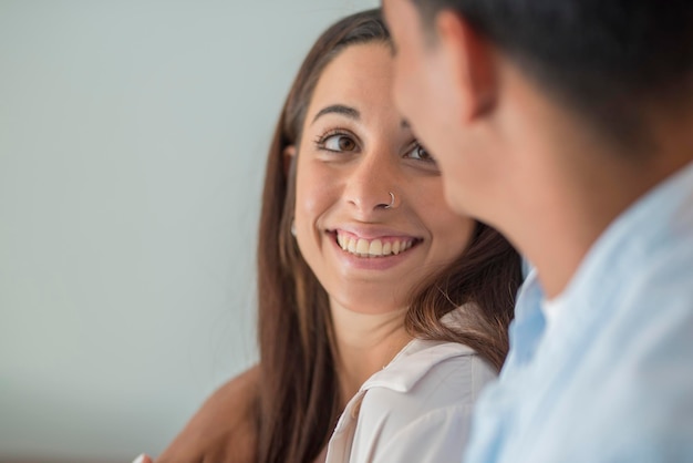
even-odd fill
[[[257,358],[266,150],[376,0],[0,0],[0,461],[156,454]]]

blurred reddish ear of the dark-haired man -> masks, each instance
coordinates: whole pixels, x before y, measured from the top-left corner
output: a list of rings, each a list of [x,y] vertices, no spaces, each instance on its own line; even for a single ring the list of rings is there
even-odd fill
[[[441,11],[435,19],[438,51],[447,63],[452,86],[458,92],[462,116],[472,122],[496,106],[498,79],[495,49],[465,18]]]

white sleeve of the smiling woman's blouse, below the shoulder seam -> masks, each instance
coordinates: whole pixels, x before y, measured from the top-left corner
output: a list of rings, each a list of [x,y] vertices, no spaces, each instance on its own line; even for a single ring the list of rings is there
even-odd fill
[[[360,407],[350,462],[461,462],[472,410],[495,378],[478,357],[442,362],[406,392],[368,391]]]

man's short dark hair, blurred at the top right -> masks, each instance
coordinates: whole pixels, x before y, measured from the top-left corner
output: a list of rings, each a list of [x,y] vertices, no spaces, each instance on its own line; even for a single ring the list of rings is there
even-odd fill
[[[462,14],[526,75],[619,142],[647,132],[644,107],[690,104],[691,0],[411,1],[428,30],[442,10]]]

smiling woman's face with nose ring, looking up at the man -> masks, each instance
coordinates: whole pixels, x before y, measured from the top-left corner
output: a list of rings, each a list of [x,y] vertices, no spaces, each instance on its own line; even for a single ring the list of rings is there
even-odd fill
[[[435,161],[394,107],[392,82],[386,44],[348,47],[318,81],[298,147],[299,248],[331,303],[364,313],[405,308],[474,228],[447,207]]]

